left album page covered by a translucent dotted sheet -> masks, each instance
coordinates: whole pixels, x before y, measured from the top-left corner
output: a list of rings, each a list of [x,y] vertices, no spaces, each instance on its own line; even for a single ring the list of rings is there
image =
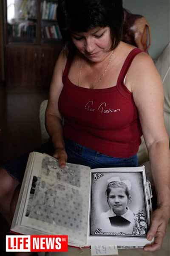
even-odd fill
[[[29,234],[68,235],[70,245],[84,246],[88,229],[90,167],[66,164],[65,168],[60,168],[55,158],[37,152],[30,157],[31,170],[26,168],[20,206],[17,206],[17,224],[23,227],[20,230],[27,227]],[[14,217],[16,219],[16,215]]]

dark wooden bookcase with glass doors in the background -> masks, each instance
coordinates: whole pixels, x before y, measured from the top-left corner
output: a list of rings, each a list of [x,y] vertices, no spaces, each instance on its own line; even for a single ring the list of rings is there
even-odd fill
[[[3,0],[6,85],[45,87],[62,49],[57,0]]]

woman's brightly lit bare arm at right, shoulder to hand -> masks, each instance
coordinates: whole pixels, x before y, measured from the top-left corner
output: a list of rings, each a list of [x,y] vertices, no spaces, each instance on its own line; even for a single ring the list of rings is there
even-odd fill
[[[147,233],[147,239],[155,237],[155,240],[144,249],[155,251],[161,247],[170,218],[170,150],[164,127],[163,86],[153,61],[145,53],[133,60],[126,82],[130,85],[139,111],[156,187],[158,205]]]

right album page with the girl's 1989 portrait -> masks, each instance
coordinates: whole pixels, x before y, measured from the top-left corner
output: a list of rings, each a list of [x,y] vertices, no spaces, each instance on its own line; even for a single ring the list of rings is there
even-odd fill
[[[91,170],[88,244],[144,246],[150,213],[144,167]]]

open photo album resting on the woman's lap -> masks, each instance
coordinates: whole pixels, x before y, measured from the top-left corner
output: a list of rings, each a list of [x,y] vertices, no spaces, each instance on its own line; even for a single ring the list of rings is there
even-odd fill
[[[144,166],[97,168],[31,152],[11,231],[68,235],[68,245],[143,247],[152,212]]]

